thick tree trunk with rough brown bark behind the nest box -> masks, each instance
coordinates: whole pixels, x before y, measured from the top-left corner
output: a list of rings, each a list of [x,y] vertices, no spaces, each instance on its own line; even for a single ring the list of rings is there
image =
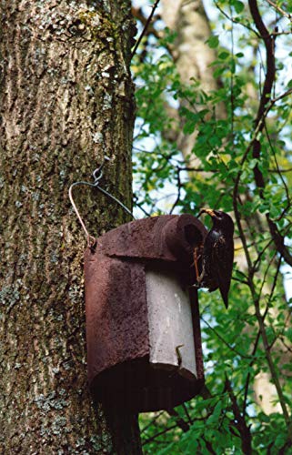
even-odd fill
[[[130,205],[129,12],[129,0],[2,2],[1,453],[140,453],[136,417],[87,391],[86,239],[67,197],[107,155],[104,186]],[[74,193],[92,234],[126,220],[93,193]]]

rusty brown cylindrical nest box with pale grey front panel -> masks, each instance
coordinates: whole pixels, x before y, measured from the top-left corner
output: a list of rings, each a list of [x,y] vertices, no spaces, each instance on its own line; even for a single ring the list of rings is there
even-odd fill
[[[204,384],[193,251],[206,229],[191,215],[117,227],[86,249],[89,387],[136,412],[170,409]]]

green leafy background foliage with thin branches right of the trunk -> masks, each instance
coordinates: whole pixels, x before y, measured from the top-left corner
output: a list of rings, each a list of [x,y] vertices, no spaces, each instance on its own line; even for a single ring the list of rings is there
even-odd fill
[[[214,207],[236,223],[230,308],[218,292],[199,296],[206,389],[173,416],[141,417],[145,453],[292,453],[292,6],[259,6],[212,2],[215,91],[181,81],[167,29],[146,36],[134,58],[136,207]],[[196,134],[191,154],[177,147],[177,130]],[[263,377],[272,394],[258,392]]]

